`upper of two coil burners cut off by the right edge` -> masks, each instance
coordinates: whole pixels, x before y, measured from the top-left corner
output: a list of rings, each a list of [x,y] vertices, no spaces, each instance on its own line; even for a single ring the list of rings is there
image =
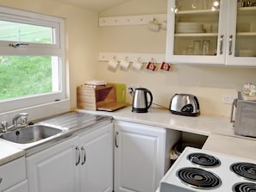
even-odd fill
[[[256,164],[235,163],[230,165],[230,170],[240,177],[256,181]]]

